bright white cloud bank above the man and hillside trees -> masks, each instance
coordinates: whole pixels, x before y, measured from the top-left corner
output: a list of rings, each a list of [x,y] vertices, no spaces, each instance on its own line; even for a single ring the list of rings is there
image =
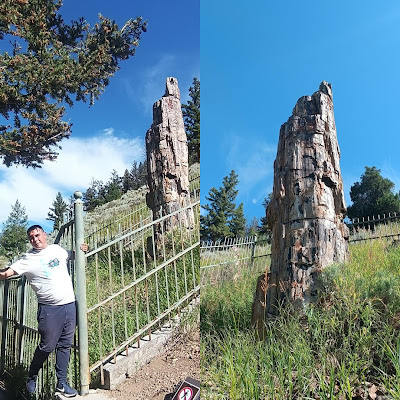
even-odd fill
[[[92,178],[107,181],[113,169],[122,176],[133,161],[143,161],[143,146],[141,138],[120,138],[107,128],[97,136],[65,140],[57,161],[41,169],[1,165],[0,221],[7,219],[18,199],[30,221],[46,224],[57,192],[67,199],[75,190],[85,191]]]

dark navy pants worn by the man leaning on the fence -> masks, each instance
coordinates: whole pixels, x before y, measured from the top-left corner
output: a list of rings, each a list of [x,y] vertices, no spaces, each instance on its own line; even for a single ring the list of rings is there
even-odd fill
[[[76,326],[75,302],[61,306],[39,304],[37,319],[40,343],[36,348],[29,376],[38,375],[49,354],[56,350],[58,381],[67,381],[67,369]]]

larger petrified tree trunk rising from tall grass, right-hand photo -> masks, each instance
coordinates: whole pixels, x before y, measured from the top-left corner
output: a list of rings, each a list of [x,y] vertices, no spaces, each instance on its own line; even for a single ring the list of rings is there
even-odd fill
[[[346,260],[348,229],[343,223],[339,158],[332,89],[322,82],[312,96],[297,101],[279,133],[273,197],[267,209],[271,269],[259,278],[254,324],[277,314],[284,298],[299,308],[314,301],[321,269]]]

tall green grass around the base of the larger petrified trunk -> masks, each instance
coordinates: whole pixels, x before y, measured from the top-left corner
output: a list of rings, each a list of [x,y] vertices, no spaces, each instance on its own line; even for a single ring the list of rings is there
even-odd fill
[[[260,342],[250,318],[263,269],[202,287],[202,397],[362,399],[374,384],[400,399],[399,247],[352,245],[348,263],[324,270],[318,304],[282,308]]]

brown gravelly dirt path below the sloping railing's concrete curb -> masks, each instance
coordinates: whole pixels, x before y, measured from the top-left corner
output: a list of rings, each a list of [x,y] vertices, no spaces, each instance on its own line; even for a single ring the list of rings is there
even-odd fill
[[[197,328],[172,339],[164,354],[130,376],[116,390],[102,393],[116,400],[170,400],[188,376],[200,381],[200,331]]]

